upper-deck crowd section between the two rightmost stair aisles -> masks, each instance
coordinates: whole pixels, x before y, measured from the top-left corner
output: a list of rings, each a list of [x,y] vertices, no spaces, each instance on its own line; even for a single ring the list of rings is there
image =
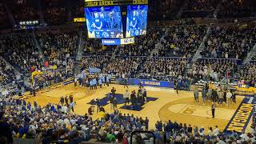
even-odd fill
[[[201,55],[203,58],[245,58],[254,46],[254,33],[253,27],[212,27]]]

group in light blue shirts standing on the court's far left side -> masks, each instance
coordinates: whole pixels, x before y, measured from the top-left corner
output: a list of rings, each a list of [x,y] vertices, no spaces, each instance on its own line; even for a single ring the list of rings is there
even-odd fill
[[[90,90],[96,90],[99,86],[102,88],[102,85],[110,85],[110,75],[95,74],[92,77],[89,77],[88,74],[85,74],[83,78],[74,78],[74,86],[87,86],[90,87]]]

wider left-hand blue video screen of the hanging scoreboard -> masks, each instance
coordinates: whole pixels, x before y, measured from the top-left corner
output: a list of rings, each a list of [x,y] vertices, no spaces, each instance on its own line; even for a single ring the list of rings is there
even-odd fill
[[[123,38],[120,6],[85,8],[89,38]]]

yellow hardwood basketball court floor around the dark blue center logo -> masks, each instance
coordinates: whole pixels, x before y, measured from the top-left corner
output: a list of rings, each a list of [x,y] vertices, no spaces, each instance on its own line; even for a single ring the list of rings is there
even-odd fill
[[[117,94],[124,94],[126,88],[122,85],[103,86],[102,89],[98,87],[97,90],[90,90],[86,87],[74,87],[74,83],[66,86],[51,86],[46,90],[40,90],[35,97],[30,97],[29,94],[25,94],[23,98],[26,98],[26,102],[38,102],[38,105],[45,106],[48,102],[58,103],[61,96],[74,95],[74,101],[77,105],[74,107],[76,114],[87,113],[90,104],[88,104],[92,99],[105,98],[106,94],[110,93],[112,87],[116,88]],[[132,90],[138,90],[138,86],[129,86],[129,92]],[[157,121],[167,122],[171,120],[178,123],[186,123],[187,126],[204,126],[206,130],[208,127],[218,125],[220,130],[224,130],[230,119],[234,115],[238,106],[242,102],[243,96],[237,97],[237,103],[232,103],[231,106],[217,106],[215,111],[215,117],[211,118],[210,105],[211,102],[206,102],[206,105],[202,104],[202,97],[200,96],[200,102],[194,102],[194,94],[192,91],[181,90],[176,91],[167,88],[158,87],[146,87],[147,97],[154,98],[154,100],[146,102],[142,106],[142,110],[126,110],[120,109],[124,104],[118,105],[118,110],[122,114],[134,114],[135,117],[149,118],[150,119],[150,129],[155,129],[154,124]],[[110,104],[104,106],[106,112],[111,113]],[[99,115],[94,113],[93,118],[98,118]],[[247,125],[250,127],[250,124]],[[247,131],[246,130],[246,131]]]

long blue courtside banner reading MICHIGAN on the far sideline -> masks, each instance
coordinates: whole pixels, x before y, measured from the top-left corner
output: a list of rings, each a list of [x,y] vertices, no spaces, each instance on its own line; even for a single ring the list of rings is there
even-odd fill
[[[136,78],[128,79],[129,85],[138,85],[140,82],[142,83],[142,86],[174,88],[174,82],[156,81],[156,80],[148,80],[148,79],[136,79]]]

